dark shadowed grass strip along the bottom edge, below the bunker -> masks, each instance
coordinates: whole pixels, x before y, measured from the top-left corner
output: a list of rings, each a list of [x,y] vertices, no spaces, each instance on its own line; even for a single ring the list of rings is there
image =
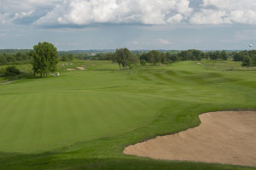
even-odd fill
[[[0,153],[1,170],[34,170],[34,169],[68,169],[68,170],[132,170],[132,169],[172,169],[172,170],[219,170],[219,169],[254,169],[253,167],[235,167],[197,163],[189,161],[155,161],[148,158],[85,158],[56,160],[57,153],[39,155],[20,155]],[[10,161],[12,160],[12,161]]]

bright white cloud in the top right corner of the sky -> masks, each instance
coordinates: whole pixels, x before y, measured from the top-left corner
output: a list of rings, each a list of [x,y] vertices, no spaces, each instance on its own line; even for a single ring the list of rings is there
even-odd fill
[[[203,0],[201,10],[189,20],[193,24],[256,24],[255,0]]]

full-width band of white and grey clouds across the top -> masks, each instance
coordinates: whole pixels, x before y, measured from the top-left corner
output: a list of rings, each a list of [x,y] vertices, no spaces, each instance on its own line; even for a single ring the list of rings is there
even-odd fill
[[[256,24],[256,0],[0,0],[0,24]]]

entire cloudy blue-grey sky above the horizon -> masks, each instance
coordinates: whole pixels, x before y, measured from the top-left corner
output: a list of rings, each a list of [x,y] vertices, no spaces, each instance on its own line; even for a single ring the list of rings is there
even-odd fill
[[[58,50],[249,49],[256,0],[0,0],[0,48],[38,42]]]

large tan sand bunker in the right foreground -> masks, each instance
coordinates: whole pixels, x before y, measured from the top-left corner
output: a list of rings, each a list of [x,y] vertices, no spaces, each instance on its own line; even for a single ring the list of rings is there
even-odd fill
[[[219,111],[199,117],[199,127],[128,146],[124,153],[256,167],[256,111]]]

